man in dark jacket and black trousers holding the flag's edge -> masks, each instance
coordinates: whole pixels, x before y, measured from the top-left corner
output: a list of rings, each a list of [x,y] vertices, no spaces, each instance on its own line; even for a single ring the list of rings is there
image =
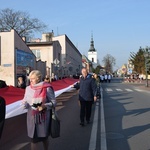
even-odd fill
[[[91,110],[93,101],[96,101],[96,82],[95,79],[88,74],[87,69],[83,68],[82,76],[80,77],[79,83],[74,85],[74,88],[79,90],[79,101],[80,101],[80,120],[81,126],[85,124],[85,118],[87,123],[90,123]]]

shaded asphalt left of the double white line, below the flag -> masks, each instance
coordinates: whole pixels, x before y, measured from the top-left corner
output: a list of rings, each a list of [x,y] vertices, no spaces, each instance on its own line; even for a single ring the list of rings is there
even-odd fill
[[[57,98],[57,112],[61,120],[61,136],[56,139],[49,137],[50,150],[88,150],[92,123],[79,125],[80,107],[78,93],[67,92]],[[94,106],[92,111],[94,115]],[[98,145],[99,146],[99,145]],[[42,150],[42,143],[38,144]],[[30,140],[27,137],[26,114],[5,121],[0,150],[29,150]],[[99,148],[97,148],[98,150]]]

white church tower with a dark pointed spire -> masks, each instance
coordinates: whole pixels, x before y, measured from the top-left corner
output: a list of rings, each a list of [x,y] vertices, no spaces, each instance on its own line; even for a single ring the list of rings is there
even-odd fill
[[[91,35],[91,45],[88,51],[88,59],[93,63],[97,64],[97,51],[94,48],[93,34]]]

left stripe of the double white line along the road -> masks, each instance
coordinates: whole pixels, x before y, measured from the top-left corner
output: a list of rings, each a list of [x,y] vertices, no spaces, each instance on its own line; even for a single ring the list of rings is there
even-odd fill
[[[96,149],[97,131],[98,131],[98,112],[99,112],[99,102],[96,102],[91,137],[90,137],[89,150]]]

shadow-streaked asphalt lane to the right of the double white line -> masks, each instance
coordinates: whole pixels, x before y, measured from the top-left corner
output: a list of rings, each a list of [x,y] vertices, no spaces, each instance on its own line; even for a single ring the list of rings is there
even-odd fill
[[[120,79],[102,89],[107,150],[150,150],[150,91]]]

